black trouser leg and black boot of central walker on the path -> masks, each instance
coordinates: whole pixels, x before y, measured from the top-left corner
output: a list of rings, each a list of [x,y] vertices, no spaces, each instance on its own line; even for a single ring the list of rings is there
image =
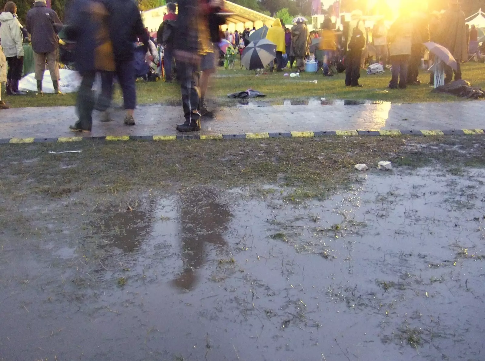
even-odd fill
[[[185,117],[184,124],[178,125],[181,132],[199,131],[200,114],[197,110],[200,100],[199,89],[196,84],[194,66],[188,63],[180,63],[179,66],[180,90],[182,93],[182,107]]]

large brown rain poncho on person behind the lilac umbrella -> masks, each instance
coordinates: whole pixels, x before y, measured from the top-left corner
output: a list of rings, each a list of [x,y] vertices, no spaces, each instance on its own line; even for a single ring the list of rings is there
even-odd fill
[[[468,59],[467,28],[465,14],[454,6],[441,18],[440,44],[450,50],[456,61]]]

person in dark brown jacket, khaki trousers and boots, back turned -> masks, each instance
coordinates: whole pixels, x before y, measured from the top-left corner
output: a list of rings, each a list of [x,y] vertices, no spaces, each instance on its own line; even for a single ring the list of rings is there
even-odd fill
[[[59,91],[59,37],[57,33],[62,28],[59,16],[54,10],[47,7],[46,0],[35,0],[33,8],[27,12],[25,26],[31,34],[37,94],[43,94],[42,80],[46,70],[46,61],[54,85],[54,94],[62,94]]]

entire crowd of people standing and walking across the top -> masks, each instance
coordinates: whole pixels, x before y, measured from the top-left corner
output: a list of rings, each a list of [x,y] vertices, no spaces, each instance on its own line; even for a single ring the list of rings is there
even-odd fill
[[[181,0],[177,6],[168,3],[168,13],[152,39],[163,48],[163,63],[166,82],[177,80],[181,86],[181,97],[185,122],[177,130],[200,130],[201,117],[211,117],[205,103],[210,76],[216,70],[218,46],[226,39],[235,49],[247,46],[255,28],[243,32],[220,30],[226,18],[221,14],[222,0]],[[70,128],[73,131],[91,131],[92,114],[101,111],[101,121],[110,121],[108,109],[111,105],[113,80],[117,79],[123,93],[126,116],[124,123],[135,124],[133,116],[136,107],[136,88],[134,73],[134,46],[143,44],[147,61],[154,61],[156,49],[150,47],[149,32],[144,28],[140,12],[132,0],[72,0],[66,9],[65,24],[57,14],[49,9],[46,0],[36,0],[27,13],[25,27],[16,17],[16,4],[6,3],[0,14],[0,82],[7,82],[6,93],[22,95],[18,81],[22,75],[23,47],[26,36],[31,37],[35,63],[37,94],[42,95],[42,81],[46,63],[54,86],[59,91],[59,37],[74,46],[75,68],[82,81],[77,95],[78,121]],[[418,80],[421,58],[424,55],[423,43],[433,41],[450,50],[458,62],[454,70],[455,80],[461,79],[459,63],[467,60],[468,42],[477,41],[474,27],[467,29],[465,15],[457,0],[449,1],[449,9],[442,15],[426,15],[413,12],[406,6],[390,27],[384,20],[376,22],[373,29],[365,27],[361,11],[354,11],[345,31],[335,31],[330,18],[325,18],[319,32],[309,33],[305,21],[299,20],[291,29],[276,19],[268,30],[266,38],[276,46],[275,61],[270,69],[281,71],[288,64],[296,63],[298,71],[305,71],[305,62],[310,56],[310,45],[318,39],[317,49],[325,75],[329,67],[345,54],[345,85],[360,87],[360,70],[364,59],[369,59],[369,49],[373,49],[375,62],[392,66],[391,89],[404,89],[408,85],[419,85]],[[3,66],[3,56],[8,66]],[[433,60],[433,55],[429,55]],[[174,65],[177,70],[175,71]],[[8,68],[8,71],[5,71]],[[453,78],[453,69],[446,67],[446,82]],[[5,74],[6,73],[6,74]],[[101,92],[96,97],[92,88],[96,74],[100,74]],[[430,82],[433,82],[433,74]],[[6,107],[0,98],[0,108]]]

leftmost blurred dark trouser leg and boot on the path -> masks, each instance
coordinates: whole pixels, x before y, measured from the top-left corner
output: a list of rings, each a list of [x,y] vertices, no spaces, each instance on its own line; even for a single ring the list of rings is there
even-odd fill
[[[93,92],[95,76],[96,73],[94,71],[82,74],[81,86],[79,87],[76,101],[79,120],[74,126],[69,127],[73,131],[91,131],[95,105]]]

